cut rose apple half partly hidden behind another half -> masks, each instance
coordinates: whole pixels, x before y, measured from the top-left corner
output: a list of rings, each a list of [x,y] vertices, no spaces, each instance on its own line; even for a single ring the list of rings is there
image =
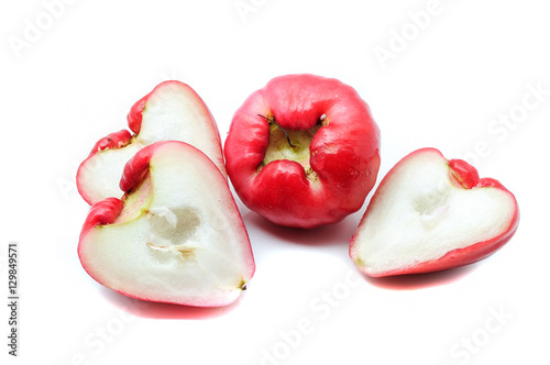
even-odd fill
[[[90,204],[121,197],[119,180],[124,164],[152,143],[183,141],[202,151],[226,177],[221,140],[216,121],[202,99],[188,85],[170,80],[140,99],[128,114],[134,134],[120,131],[96,143],[79,166],[77,187]]]

